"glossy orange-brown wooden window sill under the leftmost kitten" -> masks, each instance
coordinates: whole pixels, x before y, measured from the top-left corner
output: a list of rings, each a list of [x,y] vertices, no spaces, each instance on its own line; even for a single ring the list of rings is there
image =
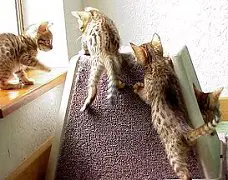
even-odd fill
[[[65,81],[66,68],[54,68],[50,73],[29,70],[27,74],[30,79],[34,80],[34,85],[19,90],[0,90],[0,118],[4,118],[50,89],[62,84]]]

